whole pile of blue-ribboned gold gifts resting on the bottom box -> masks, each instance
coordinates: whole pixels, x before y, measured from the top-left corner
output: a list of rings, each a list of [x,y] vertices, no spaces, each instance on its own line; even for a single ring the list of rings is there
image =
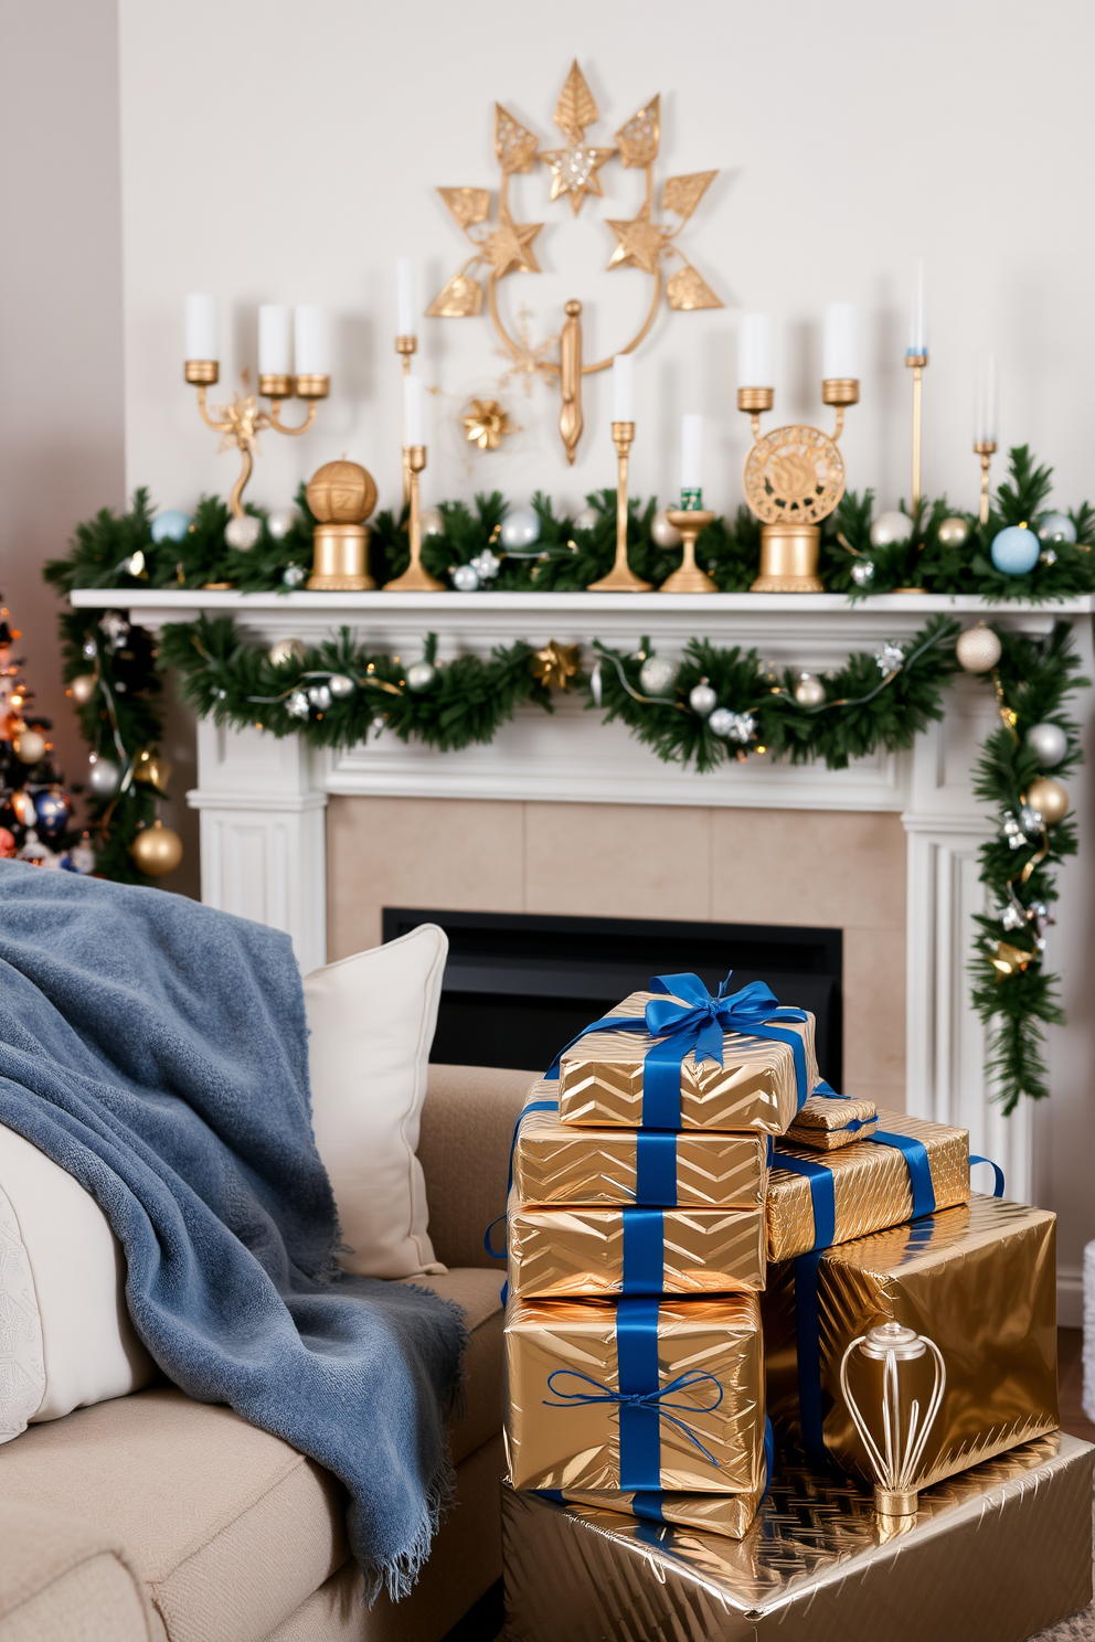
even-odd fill
[[[517,1128],[512,1488],[740,1539],[772,1424],[872,1481],[841,1363],[885,1322],[946,1365],[914,1486],[1054,1430],[1054,1217],[972,1195],[964,1130],[834,1095],[813,1016],[767,988],[652,988]]]

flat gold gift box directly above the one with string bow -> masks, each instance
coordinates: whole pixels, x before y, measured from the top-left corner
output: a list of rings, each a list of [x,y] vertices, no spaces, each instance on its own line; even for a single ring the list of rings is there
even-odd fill
[[[622,1294],[625,1276],[629,1294],[763,1289],[763,1210],[511,1207],[511,1294]]]

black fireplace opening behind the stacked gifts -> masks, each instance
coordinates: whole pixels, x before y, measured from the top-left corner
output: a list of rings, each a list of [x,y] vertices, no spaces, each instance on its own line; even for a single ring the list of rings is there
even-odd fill
[[[652,975],[693,970],[717,992],[734,970],[734,990],[765,980],[780,1003],[813,1011],[821,1076],[841,1087],[841,929],[386,906],[384,941],[424,923],[448,936],[432,1061],[543,1071]]]

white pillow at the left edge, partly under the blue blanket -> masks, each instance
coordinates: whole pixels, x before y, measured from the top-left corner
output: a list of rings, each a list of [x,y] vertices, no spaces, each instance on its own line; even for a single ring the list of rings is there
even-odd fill
[[[140,1391],[156,1365],[125,1304],[125,1254],[59,1164],[0,1125],[0,1442]]]

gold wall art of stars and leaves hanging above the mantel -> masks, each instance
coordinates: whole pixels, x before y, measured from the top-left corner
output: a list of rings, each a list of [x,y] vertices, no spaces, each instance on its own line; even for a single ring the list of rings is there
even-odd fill
[[[653,97],[627,120],[616,133],[616,146],[589,143],[586,133],[601,115],[586,77],[575,61],[555,105],[553,122],[566,140],[565,148],[540,148],[540,140],[501,103],[494,103],[494,158],[501,171],[497,222],[491,225],[491,197],[486,189],[438,189],[450,215],[473,245],[473,255],[453,274],[448,284],[433,297],[427,314],[432,319],[474,319],[483,312],[486,296],[488,312],[502,340],[511,373],[519,373],[527,383],[535,376],[558,379],[561,392],[560,433],[566,460],[573,463],[583,432],[581,378],[604,371],[612,355],[584,363],[581,358],[581,302],[570,300],[565,307],[565,323],[558,337],[547,343],[532,343],[525,323],[514,337],[499,309],[497,286],[509,274],[538,274],[540,263],[535,238],[542,222],[514,222],[509,202],[509,179],[529,174],[542,161],[552,176],[550,199],[566,199],[576,217],[591,195],[604,197],[601,169],[619,158],[624,169],[645,172],[645,197],[632,218],[606,218],[606,228],[616,236],[616,246],[607,258],[607,268],[635,268],[653,281],[647,317],[630,342],[616,353],[632,353],[648,335],[662,302],[662,289],[668,305],[678,312],[722,307],[706,279],[688,261],[676,245],[676,236],[699,205],[717,171],[696,171],[690,176],[668,177],[662,190],[662,213],[655,213],[653,169],[662,146],[660,99]],[[676,222],[662,220],[665,213]],[[667,277],[667,259],[680,266]]]

